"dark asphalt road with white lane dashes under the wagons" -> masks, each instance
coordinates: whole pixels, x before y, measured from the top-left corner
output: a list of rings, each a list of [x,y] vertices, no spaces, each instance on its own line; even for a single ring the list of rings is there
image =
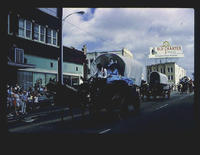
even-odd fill
[[[75,110],[72,120],[69,109],[65,108],[64,121],[61,121],[59,108],[54,112],[44,111],[27,116],[18,122],[9,123],[11,133],[59,133],[59,134],[165,134],[193,133],[194,93],[172,92],[170,99],[144,100],[139,114],[129,113],[126,117],[114,113],[108,116],[101,112],[96,119],[86,112],[81,117]]]

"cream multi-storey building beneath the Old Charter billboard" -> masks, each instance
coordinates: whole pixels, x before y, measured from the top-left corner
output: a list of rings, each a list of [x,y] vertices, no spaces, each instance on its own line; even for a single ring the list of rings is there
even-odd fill
[[[166,62],[147,66],[147,82],[149,82],[149,75],[153,71],[165,74],[169,82],[175,85],[178,84],[180,78],[186,76],[186,71],[175,62]]]

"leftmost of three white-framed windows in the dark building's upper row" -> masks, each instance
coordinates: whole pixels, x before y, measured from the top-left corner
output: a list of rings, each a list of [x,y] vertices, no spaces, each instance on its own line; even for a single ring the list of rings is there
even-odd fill
[[[32,23],[30,21],[20,18],[18,26],[19,26],[18,29],[19,36],[29,39],[32,38]]]

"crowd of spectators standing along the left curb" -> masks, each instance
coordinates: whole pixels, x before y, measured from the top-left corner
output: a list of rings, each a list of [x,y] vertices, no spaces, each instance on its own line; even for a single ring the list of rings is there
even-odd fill
[[[8,116],[26,115],[39,108],[39,97],[44,95],[46,87],[35,84],[24,90],[18,84],[7,85],[7,114]]]

